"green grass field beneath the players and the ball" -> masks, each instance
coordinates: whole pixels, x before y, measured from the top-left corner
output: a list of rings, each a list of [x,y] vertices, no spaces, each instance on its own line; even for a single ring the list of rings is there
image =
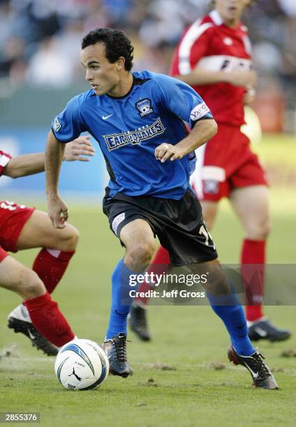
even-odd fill
[[[267,158],[269,150],[261,151]],[[291,191],[283,183],[271,191],[271,263],[295,262],[296,202]],[[100,206],[68,207],[71,222],[80,230],[80,245],[54,299],[77,336],[101,343],[108,322],[110,275],[123,252]],[[238,262],[242,228],[226,202],[212,234],[222,262]],[[35,254],[25,251],[17,259],[31,265]],[[43,356],[27,338],[7,329],[6,317],[17,304],[16,295],[1,290],[0,412],[40,412],[43,426],[295,425],[296,358],[281,357],[283,350],[296,351],[293,306],[266,308],[274,323],[292,329],[293,338],[260,343],[279,391],[252,389],[249,373],[228,362],[228,336],[208,307],[151,306],[153,341],[140,343],[129,335],[128,357],[135,375],[109,377],[94,391],[71,392],[57,382],[54,358]],[[5,349],[10,356],[3,355]],[[162,370],[159,364],[175,370]]]

